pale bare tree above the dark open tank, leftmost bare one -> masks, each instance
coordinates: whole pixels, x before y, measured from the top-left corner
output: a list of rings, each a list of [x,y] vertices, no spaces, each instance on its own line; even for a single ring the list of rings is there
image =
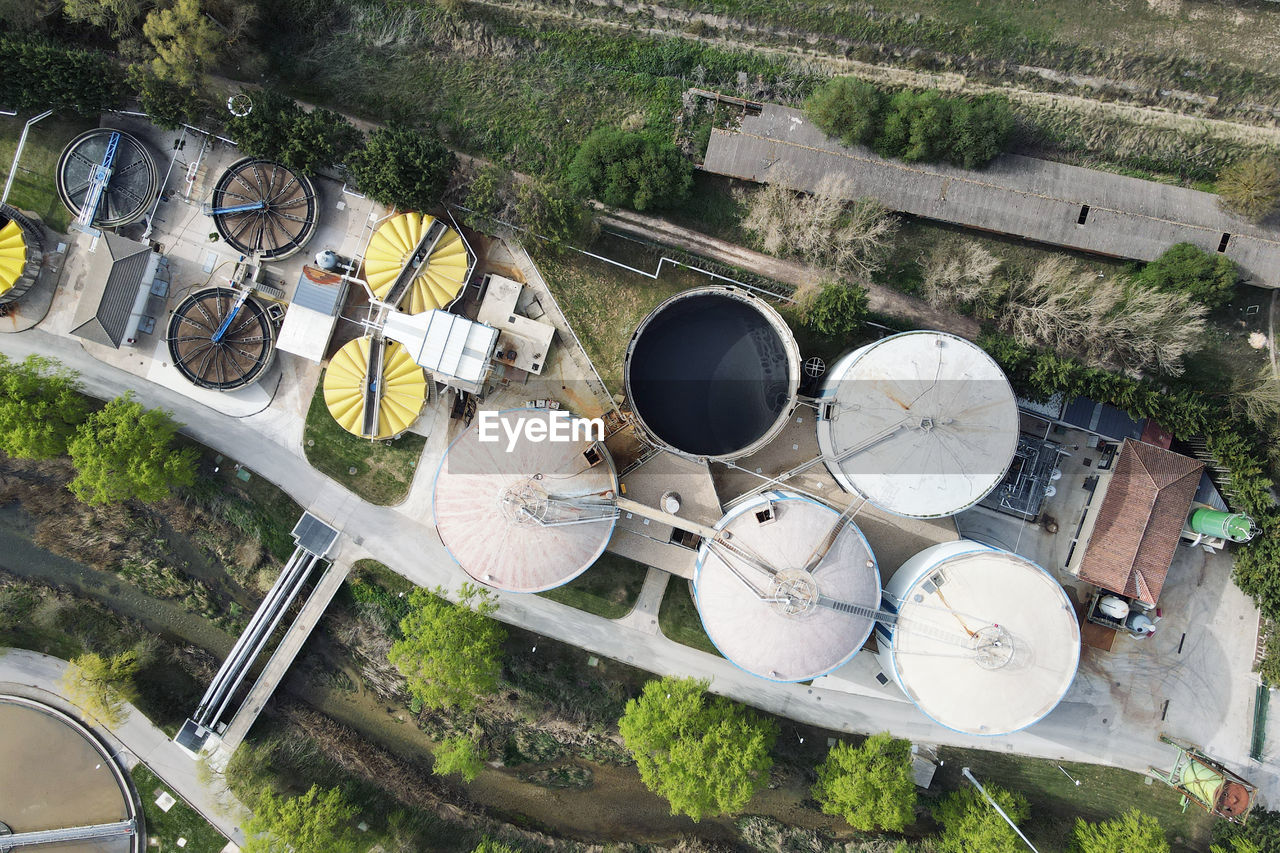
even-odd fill
[[[799,257],[855,280],[883,269],[897,218],[872,199],[846,202],[837,187],[808,195],[769,183],[744,199],[742,227],[762,251]]]

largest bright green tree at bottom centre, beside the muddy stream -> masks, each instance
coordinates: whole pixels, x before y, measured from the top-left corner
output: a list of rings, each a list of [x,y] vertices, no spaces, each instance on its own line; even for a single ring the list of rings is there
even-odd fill
[[[733,815],[769,780],[777,726],[707,693],[707,681],[663,678],[627,702],[618,730],[645,786],[672,815]]]

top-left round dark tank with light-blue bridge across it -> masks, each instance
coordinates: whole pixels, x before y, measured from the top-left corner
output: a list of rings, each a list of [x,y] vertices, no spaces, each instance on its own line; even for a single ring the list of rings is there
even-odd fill
[[[93,225],[100,228],[118,228],[137,222],[160,191],[155,159],[141,140],[110,128],[86,131],[63,149],[55,173],[58,195],[72,215],[81,215],[93,175],[102,164],[114,134],[119,136],[119,141],[111,163],[111,177],[93,216]]]

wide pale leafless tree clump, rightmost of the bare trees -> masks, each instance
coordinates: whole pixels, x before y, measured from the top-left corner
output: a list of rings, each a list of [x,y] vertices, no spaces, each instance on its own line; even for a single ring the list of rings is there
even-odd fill
[[[1015,279],[997,323],[1023,343],[1142,374],[1183,371],[1204,330],[1206,309],[1185,293],[1100,279],[1066,257],[1041,261]]]

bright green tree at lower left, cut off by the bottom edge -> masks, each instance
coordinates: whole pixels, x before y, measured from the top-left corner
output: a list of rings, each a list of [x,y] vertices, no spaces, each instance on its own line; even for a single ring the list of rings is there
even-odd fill
[[[244,853],[349,853],[358,847],[356,812],[337,788],[312,785],[292,798],[268,790],[244,825]]]

